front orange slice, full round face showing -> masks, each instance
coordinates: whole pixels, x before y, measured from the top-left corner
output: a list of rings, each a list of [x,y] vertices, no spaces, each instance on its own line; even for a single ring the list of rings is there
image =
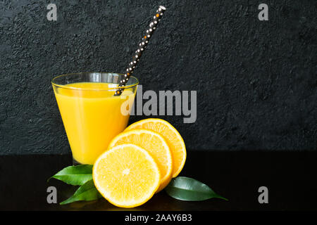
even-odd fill
[[[159,167],[154,158],[139,146],[113,147],[94,163],[94,186],[118,207],[136,207],[149,200],[160,184]]]

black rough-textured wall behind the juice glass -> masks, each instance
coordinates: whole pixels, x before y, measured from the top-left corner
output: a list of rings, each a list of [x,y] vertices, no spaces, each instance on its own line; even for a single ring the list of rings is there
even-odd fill
[[[316,150],[316,0],[4,0],[0,153],[68,152],[51,78],[123,72],[159,5],[167,11],[135,75],[144,91],[197,90],[197,122],[162,117],[188,149]]]

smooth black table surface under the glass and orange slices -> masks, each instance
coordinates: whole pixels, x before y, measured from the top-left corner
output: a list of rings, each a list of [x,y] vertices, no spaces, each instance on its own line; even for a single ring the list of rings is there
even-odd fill
[[[317,152],[188,150],[180,176],[204,182],[228,201],[186,202],[165,191],[129,210],[317,210]],[[0,210],[127,210],[104,199],[68,205],[49,204],[49,186],[58,203],[77,187],[47,179],[72,164],[70,155],[1,155]],[[268,203],[258,201],[260,186],[268,188]]]

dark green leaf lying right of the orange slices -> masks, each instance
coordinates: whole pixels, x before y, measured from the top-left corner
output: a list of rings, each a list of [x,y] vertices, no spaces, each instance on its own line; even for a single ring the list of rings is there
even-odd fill
[[[209,186],[195,179],[178,176],[165,188],[166,193],[173,198],[185,201],[201,201],[209,198],[221,198],[228,200],[216,194]]]

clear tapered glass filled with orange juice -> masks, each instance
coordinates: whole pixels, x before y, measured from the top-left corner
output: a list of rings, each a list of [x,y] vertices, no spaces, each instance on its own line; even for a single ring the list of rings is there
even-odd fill
[[[113,96],[123,76],[82,72],[52,79],[74,165],[93,165],[127,126],[139,82],[131,76],[123,93]]]

